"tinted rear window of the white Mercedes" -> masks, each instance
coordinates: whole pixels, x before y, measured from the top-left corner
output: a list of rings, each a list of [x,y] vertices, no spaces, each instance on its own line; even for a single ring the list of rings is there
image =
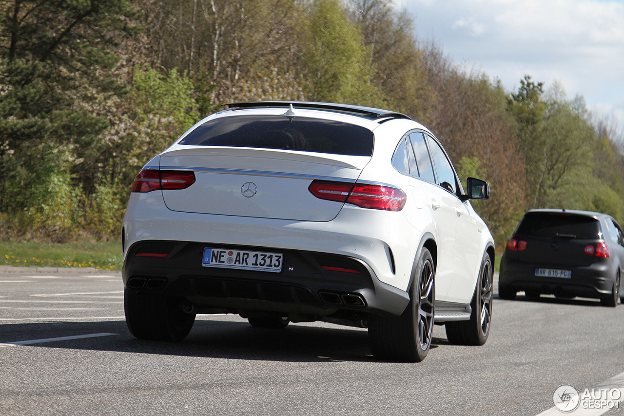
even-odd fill
[[[371,156],[373,132],[339,121],[241,115],[209,120],[190,132],[180,144]]]

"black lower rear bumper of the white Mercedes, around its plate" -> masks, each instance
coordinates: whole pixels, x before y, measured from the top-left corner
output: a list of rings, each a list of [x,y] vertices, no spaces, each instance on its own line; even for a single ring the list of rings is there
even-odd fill
[[[137,251],[166,247],[166,257],[143,257]],[[409,295],[384,284],[362,260],[344,255],[274,249],[284,255],[281,272],[203,267],[205,247],[261,250],[266,247],[144,240],[128,247],[122,277],[131,292],[178,297],[197,313],[280,312],[323,317],[344,312],[400,315]],[[153,251],[153,250],[152,250]],[[323,269],[338,265],[343,272]]]

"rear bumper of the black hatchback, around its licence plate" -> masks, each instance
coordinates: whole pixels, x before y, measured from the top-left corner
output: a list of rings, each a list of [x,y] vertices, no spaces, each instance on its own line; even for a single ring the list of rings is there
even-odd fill
[[[572,270],[572,278],[539,277],[537,267]],[[499,290],[524,290],[540,294],[604,298],[613,290],[616,267],[613,262],[594,262],[587,267],[567,265],[527,264],[503,257],[500,261]]]

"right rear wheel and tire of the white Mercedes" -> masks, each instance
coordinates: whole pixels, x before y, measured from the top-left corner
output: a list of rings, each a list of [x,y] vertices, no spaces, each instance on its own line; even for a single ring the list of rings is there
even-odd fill
[[[409,304],[401,316],[369,315],[368,335],[375,358],[421,362],[427,356],[434,325],[435,275],[431,253],[423,247],[409,289]]]

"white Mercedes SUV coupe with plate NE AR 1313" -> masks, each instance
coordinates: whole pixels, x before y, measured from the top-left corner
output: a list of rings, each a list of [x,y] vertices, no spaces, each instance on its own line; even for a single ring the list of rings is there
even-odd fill
[[[404,114],[241,102],[141,169],[122,225],[125,317],[182,340],[196,314],[256,327],[368,327],[373,355],[418,362],[434,324],[482,345],[494,240],[436,137]]]

